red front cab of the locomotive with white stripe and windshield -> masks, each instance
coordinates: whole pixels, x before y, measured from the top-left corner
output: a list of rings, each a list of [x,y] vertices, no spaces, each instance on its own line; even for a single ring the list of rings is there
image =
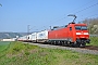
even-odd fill
[[[85,47],[89,43],[89,34],[86,24],[70,24],[69,37],[75,47]]]

